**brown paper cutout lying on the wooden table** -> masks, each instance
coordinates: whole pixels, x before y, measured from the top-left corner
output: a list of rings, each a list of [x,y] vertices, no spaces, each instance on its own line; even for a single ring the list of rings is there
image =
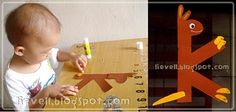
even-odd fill
[[[117,83],[124,83],[128,77],[132,77],[136,73],[110,73],[110,74],[83,74],[79,76],[76,74],[75,79],[81,79],[81,81],[76,84],[78,89],[83,88],[90,81],[94,80],[103,92],[109,91],[112,86],[105,79],[114,79]]]

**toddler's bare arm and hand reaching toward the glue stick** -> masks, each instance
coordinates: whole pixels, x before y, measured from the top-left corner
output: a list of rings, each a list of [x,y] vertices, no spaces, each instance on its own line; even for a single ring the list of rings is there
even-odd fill
[[[57,60],[59,62],[71,61],[81,72],[87,65],[87,58],[85,55],[73,55],[68,52],[58,51]]]

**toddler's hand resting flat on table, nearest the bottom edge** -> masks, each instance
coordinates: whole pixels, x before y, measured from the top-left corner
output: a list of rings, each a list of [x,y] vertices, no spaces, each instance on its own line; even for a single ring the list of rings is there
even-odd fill
[[[71,85],[51,85],[47,88],[48,96],[51,98],[69,100],[66,96],[75,96],[79,92],[77,86]]]

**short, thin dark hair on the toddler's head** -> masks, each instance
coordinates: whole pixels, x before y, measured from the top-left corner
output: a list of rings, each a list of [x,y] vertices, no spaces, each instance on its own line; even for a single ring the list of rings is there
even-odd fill
[[[8,40],[15,46],[25,37],[39,37],[42,33],[56,30],[60,32],[60,21],[41,4],[26,3],[12,12],[6,18],[5,29]]]

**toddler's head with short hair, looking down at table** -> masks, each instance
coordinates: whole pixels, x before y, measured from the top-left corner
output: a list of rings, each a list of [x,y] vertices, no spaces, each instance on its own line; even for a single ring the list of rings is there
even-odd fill
[[[29,64],[37,64],[57,44],[60,22],[45,6],[27,3],[9,13],[5,29],[15,55]]]

